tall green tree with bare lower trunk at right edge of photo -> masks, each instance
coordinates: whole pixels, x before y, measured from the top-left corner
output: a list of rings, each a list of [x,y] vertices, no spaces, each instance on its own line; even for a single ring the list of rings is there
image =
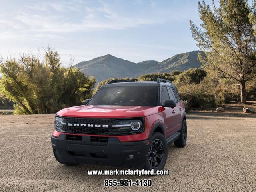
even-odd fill
[[[190,21],[204,68],[219,70],[240,85],[241,102],[246,103],[246,82],[256,77],[256,38],[252,24],[255,6],[245,0],[220,0],[213,9],[199,2],[201,28]],[[252,18],[250,19],[249,18]]]

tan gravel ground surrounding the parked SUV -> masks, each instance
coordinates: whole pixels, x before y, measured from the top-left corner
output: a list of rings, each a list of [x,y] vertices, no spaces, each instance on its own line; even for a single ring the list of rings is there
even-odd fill
[[[88,176],[103,166],[59,164],[54,115],[0,116],[0,191],[256,191],[256,114],[192,113],[185,148],[170,145],[169,176]],[[104,188],[104,179],[151,178],[153,186]]]

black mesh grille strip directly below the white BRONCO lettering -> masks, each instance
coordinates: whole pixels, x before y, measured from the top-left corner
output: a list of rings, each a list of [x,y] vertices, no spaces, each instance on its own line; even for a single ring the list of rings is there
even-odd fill
[[[93,135],[120,135],[117,128],[103,127],[77,127],[63,126],[62,130],[67,133],[93,134]]]

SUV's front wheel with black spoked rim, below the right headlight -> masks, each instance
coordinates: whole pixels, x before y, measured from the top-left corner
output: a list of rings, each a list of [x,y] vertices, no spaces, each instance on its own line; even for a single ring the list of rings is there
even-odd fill
[[[150,148],[145,162],[145,170],[162,170],[167,159],[167,143],[161,133],[154,133],[150,140]]]

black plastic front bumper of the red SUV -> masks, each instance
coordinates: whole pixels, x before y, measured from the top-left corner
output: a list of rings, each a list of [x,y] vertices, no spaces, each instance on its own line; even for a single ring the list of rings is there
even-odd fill
[[[147,142],[120,142],[116,137],[109,137],[108,142],[91,142],[90,136],[82,136],[79,141],[67,140],[66,134],[52,136],[53,150],[62,162],[105,166],[144,166],[149,150]]]

